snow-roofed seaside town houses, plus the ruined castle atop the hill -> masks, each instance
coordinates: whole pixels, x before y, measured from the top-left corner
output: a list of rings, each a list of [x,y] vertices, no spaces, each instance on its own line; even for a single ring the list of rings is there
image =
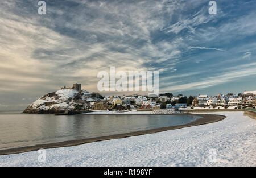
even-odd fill
[[[81,90],[81,84],[73,84],[72,88]],[[208,96],[207,94],[199,94],[198,96],[183,96],[178,94],[174,96],[172,93],[130,96],[101,96],[99,93],[92,93],[94,102],[92,102],[90,110],[130,110],[138,111],[159,110],[159,109],[243,109],[246,107],[254,107],[256,105],[256,90],[245,91],[243,93],[218,94],[217,96]],[[97,99],[95,98],[97,96]]]

